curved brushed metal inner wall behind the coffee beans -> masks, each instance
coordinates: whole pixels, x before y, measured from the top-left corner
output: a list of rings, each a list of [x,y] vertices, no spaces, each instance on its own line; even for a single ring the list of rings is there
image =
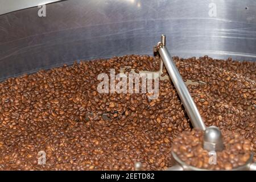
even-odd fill
[[[38,10],[0,16],[0,79],[74,60],[152,55],[161,34],[174,56],[256,60],[254,0],[72,0],[46,5],[46,17]]]

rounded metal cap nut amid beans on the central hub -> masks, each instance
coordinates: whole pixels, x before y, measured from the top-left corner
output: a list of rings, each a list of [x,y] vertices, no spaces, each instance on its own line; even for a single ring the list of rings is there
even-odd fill
[[[210,126],[204,133],[204,149],[208,151],[222,151],[224,144],[220,129]]]

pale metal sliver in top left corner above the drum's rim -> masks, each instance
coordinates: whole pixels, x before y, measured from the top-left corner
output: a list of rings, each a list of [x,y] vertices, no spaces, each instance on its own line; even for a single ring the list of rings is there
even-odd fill
[[[1,0],[0,15],[61,0]]]

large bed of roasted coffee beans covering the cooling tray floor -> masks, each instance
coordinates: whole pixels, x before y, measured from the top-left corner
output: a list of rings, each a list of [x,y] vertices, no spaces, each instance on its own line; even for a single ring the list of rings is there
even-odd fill
[[[256,63],[208,56],[174,61],[206,125],[240,133],[255,151]],[[155,71],[159,57],[80,61],[1,82],[0,170],[170,167],[173,140],[192,128],[184,107],[168,80],[159,82],[156,100],[97,92],[100,73],[125,66]]]

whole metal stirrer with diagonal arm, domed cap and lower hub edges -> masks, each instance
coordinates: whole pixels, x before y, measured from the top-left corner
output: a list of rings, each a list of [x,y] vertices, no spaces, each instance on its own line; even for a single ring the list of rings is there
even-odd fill
[[[222,151],[224,149],[224,144],[222,140],[221,131],[216,126],[205,126],[203,119],[199,113],[199,110],[196,107],[195,102],[193,101],[190,93],[188,92],[187,86],[182,80],[180,73],[172,60],[172,56],[170,55],[168,49],[166,48],[166,36],[161,36],[161,42],[158,43],[154,48],[155,52],[159,52],[160,59],[163,61],[166,69],[169,73],[169,76],[179,94],[179,97],[187,111],[188,117],[195,128],[199,128],[204,130],[204,143],[203,148],[208,151]],[[175,153],[172,153],[172,156],[175,158],[177,164],[168,168],[168,171],[183,171],[183,170],[201,170],[195,167],[187,166],[184,162],[182,162]],[[236,169],[235,169],[236,170]],[[256,163],[253,163],[253,154],[251,154],[250,160],[247,162],[245,166],[241,166],[238,170],[256,170]]]

